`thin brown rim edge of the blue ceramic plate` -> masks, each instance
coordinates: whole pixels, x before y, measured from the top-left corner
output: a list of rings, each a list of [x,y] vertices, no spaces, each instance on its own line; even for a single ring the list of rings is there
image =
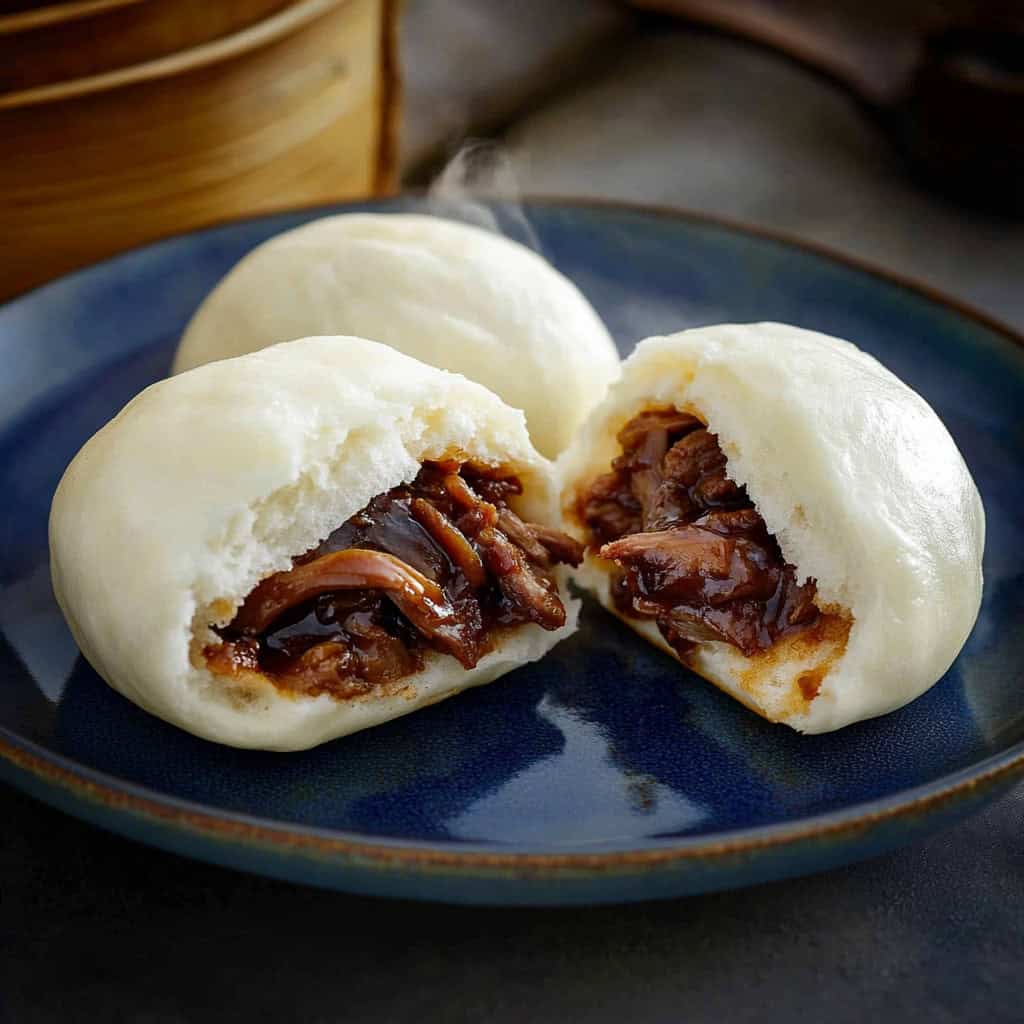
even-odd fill
[[[407,190],[395,199],[423,198],[425,193]],[[501,197],[481,197],[483,202],[501,202]],[[689,220],[714,227],[724,227],[738,234],[781,243],[795,249],[810,252],[834,263],[870,274],[891,285],[913,292],[936,305],[974,321],[981,327],[1002,335],[1018,346],[1024,347],[1024,334],[1000,323],[966,302],[924,285],[912,278],[874,266],[859,257],[848,256],[815,242],[807,242],[783,231],[757,227],[741,221],[698,213],[681,208],[653,204],[631,203],[611,199],[590,200],[557,196],[522,197],[518,200],[528,210],[530,206],[577,207],[617,210],[648,216]],[[286,212],[317,210],[339,211],[345,206],[359,206],[358,201],[348,204],[332,203],[314,207],[282,209],[264,212],[256,217],[231,217],[218,221],[203,230],[215,230],[231,223],[262,219]],[[199,231],[185,232],[200,233]],[[180,237],[180,236],[179,236]],[[159,245],[160,243],[150,243]],[[142,246],[138,248],[148,248]],[[131,250],[129,250],[131,251]],[[121,256],[124,254],[122,253]],[[121,256],[112,257],[119,259]],[[108,262],[108,261],[103,261]],[[93,266],[102,265],[93,264]],[[88,267],[84,269],[89,269]],[[69,276],[81,273],[73,271]],[[56,279],[60,280],[60,279]],[[52,283],[51,283],[52,284]],[[46,288],[42,285],[40,288]],[[0,304],[0,309],[3,304]],[[38,751],[39,753],[34,753]],[[420,845],[415,840],[374,839],[350,833],[332,833],[314,826],[273,822],[254,815],[236,812],[213,812],[203,804],[160,795],[134,782],[123,781],[104,772],[78,765],[63,755],[47,751],[31,740],[16,737],[0,727],[0,758],[16,769],[35,775],[44,783],[72,794],[79,800],[97,803],[115,813],[150,819],[158,824],[190,833],[202,839],[223,842],[258,844],[282,852],[302,851],[310,855],[344,857],[370,861],[376,866],[413,866],[421,868],[477,868],[486,871],[536,868],[539,870],[615,869],[656,867],[677,860],[707,860],[741,856],[759,850],[785,847],[808,840],[843,839],[863,833],[877,825],[902,818],[916,817],[953,805],[975,793],[983,793],[1000,782],[1009,783],[1015,776],[1024,775],[1024,740],[1006,751],[990,755],[973,767],[963,768],[902,793],[881,797],[872,801],[853,804],[839,811],[816,814],[794,822],[756,825],[737,829],[723,836],[692,836],[680,839],[645,840],[642,850],[606,850],[595,853],[493,853],[479,849],[439,849]],[[653,844],[656,844],[654,846]],[[462,844],[470,846],[471,844]]]

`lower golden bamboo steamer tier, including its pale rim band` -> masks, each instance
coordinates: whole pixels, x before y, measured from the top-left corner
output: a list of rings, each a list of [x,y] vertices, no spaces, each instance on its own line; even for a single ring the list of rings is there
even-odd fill
[[[301,0],[141,65],[0,94],[0,298],[241,216],[390,190],[394,0]]]

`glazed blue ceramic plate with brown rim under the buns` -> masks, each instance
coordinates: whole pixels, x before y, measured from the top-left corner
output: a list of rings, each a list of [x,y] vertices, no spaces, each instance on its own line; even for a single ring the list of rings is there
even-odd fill
[[[2,776],[126,836],[297,882],[568,903],[740,886],[869,856],[1024,772],[1019,340],[793,243],[616,206],[531,203],[527,215],[624,352],[683,327],[790,321],[854,340],[945,420],[989,532],[981,617],[937,686],[886,718],[799,736],[588,605],[580,633],[542,664],[304,754],[216,746],[109,690],[50,593],[57,480],[93,431],[166,373],[218,279],[257,243],[324,212],[173,239],[0,310]]]

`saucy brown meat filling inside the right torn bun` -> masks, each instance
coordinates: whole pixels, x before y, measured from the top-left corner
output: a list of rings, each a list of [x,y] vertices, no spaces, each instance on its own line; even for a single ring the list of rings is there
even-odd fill
[[[618,432],[622,455],[579,501],[624,614],[652,618],[684,655],[725,641],[745,655],[813,626],[814,580],[798,583],[718,438],[695,416],[653,409]]]

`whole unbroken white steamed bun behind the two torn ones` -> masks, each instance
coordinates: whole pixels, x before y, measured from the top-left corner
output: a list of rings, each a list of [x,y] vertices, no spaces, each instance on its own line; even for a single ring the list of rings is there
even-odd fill
[[[270,239],[200,306],[174,373],[309,335],[373,338],[526,414],[553,458],[618,373],[580,290],[524,246],[440,217],[342,214]]]

